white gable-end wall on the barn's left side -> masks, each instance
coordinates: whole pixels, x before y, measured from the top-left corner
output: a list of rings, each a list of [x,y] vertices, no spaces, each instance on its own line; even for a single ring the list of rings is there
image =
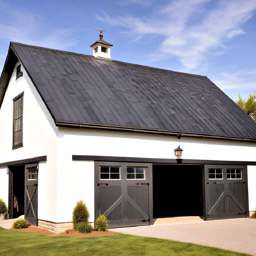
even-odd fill
[[[57,216],[55,169],[58,128],[23,67],[23,76],[16,81],[16,66],[0,109],[0,162],[47,155],[46,162],[39,162],[38,218],[54,222]],[[12,99],[23,91],[23,147],[12,150]],[[6,168],[0,169],[0,197],[8,202]]]

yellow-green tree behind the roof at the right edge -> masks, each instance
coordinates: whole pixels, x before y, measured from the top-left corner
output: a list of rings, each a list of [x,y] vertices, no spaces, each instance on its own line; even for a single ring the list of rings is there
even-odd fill
[[[238,99],[235,103],[256,122],[256,90],[248,95],[247,98],[243,98],[240,93],[238,93]]]

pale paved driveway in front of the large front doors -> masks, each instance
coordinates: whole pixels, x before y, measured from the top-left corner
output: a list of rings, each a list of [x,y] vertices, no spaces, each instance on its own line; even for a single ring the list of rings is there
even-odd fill
[[[256,219],[210,220],[111,230],[130,235],[191,242],[256,255]]]

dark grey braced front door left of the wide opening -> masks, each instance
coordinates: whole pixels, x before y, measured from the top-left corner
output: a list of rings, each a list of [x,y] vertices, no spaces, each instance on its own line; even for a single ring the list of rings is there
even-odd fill
[[[108,228],[153,221],[152,165],[95,162],[95,219],[105,214]]]

